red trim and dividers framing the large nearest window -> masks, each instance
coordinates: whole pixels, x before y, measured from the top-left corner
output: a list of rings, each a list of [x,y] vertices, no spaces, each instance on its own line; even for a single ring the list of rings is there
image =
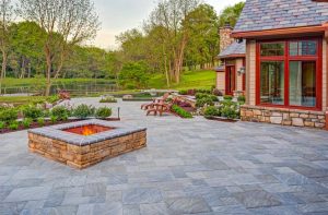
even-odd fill
[[[317,56],[290,56],[289,43],[301,40],[317,40]],[[261,57],[260,44],[261,43],[277,43],[284,41],[284,56],[277,57]],[[261,61],[283,61],[284,62],[284,105],[261,104],[260,101],[260,62]],[[305,106],[291,106],[290,105],[290,61],[316,61],[316,107]],[[256,43],[256,105],[262,107],[278,107],[278,108],[292,108],[301,110],[323,110],[323,38],[307,37],[307,38],[292,38],[292,39],[276,39],[276,40],[258,40]]]

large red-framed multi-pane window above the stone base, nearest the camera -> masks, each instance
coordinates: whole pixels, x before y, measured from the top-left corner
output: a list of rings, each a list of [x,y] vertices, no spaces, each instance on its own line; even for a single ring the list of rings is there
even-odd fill
[[[257,104],[319,109],[320,39],[258,44]]]

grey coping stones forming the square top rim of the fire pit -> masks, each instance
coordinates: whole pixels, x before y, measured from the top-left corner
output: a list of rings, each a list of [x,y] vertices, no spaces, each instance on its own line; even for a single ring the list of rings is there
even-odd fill
[[[96,133],[89,136],[83,136],[70,132],[66,132],[63,130],[66,129],[73,129],[84,126],[101,126],[101,127],[109,127],[114,128],[114,130],[105,131],[101,133]],[[97,143],[101,141],[106,141],[110,139],[115,139],[122,135],[129,135],[132,133],[137,133],[140,131],[145,131],[145,128],[128,128],[126,126],[115,124],[114,122],[92,119],[92,120],[85,120],[85,121],[78,121],[67,124],[59,124],[59,126],[52,126],[52,127],[45,127],[40,129],[32,129],[28,130],[28,133],[32,134],[38,134],[45,138],[50,138],[58,141],[65,141],[69,144],[77,145],[77,146],[84,146],[90,145],[93,143]]]

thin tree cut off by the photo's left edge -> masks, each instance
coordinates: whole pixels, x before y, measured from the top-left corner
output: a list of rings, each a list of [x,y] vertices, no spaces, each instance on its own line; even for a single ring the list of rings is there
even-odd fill
[[[14,10],[11,0],[0,0],[0,49],[2,55],[2,67],[0,74],[0,95],[3,77],[5,77],[8,52],[10,49],[10,31],[9,26],[14,20]]]

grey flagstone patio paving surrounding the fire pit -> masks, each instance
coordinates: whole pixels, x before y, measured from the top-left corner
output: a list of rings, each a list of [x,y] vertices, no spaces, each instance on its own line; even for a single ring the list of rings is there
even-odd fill
[[[97,105],[98,98],[74,99]],[[0,135],[0,214],[328,214],[328,132],[144,117],[148,147],[79,171]]]

